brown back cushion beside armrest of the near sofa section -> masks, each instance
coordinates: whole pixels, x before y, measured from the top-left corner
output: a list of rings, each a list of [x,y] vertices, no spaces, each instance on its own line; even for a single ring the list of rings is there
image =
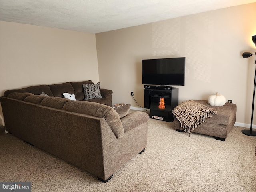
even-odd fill
[[[100,103],[86,101],[66,102],[63,110],[105,118],[116,138],[124,136],[124,127],[116,110]]]

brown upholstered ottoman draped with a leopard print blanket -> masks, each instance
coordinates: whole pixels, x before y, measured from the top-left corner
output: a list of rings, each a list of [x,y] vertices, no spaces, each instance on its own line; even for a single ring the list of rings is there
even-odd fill
[[[226,103],[224,106],[211,106],[206,100],[194,101],[214,108],[217,110],[217,114],[213,114],[211,118],[206,118],[206,121],[194,128],[193,132],[213,136],[217,140],[225,141],[236,122],[236,104]],[[175,116],[174,128],[177,131],[184,132]]]

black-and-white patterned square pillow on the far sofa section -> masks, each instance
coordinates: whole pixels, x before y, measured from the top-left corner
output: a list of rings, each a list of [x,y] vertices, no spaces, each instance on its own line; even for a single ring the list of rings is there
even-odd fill
[[[97,84],[83,84],[83,88],[85,100],[102,98],[100,94],[100,82]]]

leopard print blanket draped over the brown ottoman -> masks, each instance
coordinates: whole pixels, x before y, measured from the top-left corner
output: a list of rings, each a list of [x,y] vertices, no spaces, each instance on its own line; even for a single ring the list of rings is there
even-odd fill
[[[172,110],[174,116],[180,121],[181,129],[190,133],[194,128],[206,121],[206,118],[217,114],[214,108],[200,104],[193,100],[187,100]]]

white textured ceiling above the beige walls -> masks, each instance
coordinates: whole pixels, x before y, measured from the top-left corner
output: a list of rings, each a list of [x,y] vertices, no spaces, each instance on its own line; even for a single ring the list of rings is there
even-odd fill
[[[256,0],[0,0],[0,20],[106,32]]]

